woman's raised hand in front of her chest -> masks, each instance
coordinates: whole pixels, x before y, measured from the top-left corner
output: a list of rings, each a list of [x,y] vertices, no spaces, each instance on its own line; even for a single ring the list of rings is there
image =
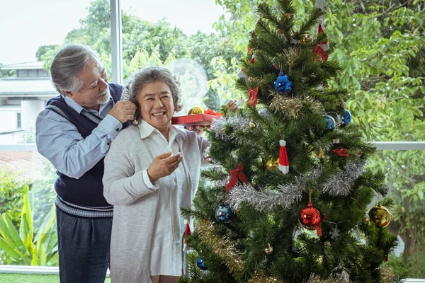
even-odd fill
[[[171,152],[166,152],[165,154],[159,154],[159,156],[154,158],[149,168],[147,168],[147,175],[151,183],[155,183],[159,178],[165,177],[173,173],[183,157],[181,153],[174,154],[171,156]]]

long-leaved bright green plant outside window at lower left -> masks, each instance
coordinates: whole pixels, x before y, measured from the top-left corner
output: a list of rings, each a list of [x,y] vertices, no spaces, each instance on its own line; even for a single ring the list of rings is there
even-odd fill
[[[40,229],[34,233],[28,195],[23,195],[19,232],[8,214],[4,213],[0,218],[1,261],[13,265],[57,265],[57,234],[54,224],[55,205],[52,205]]]

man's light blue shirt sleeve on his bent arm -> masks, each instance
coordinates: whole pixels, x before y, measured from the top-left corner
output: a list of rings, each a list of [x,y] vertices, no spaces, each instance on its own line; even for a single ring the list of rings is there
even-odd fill
[[[84,139],[66,118],[52,110],[44,110],[35,121],[37,149],[57,171],[78,179],[106,155],[122,127],[118,119],[106,115]]]

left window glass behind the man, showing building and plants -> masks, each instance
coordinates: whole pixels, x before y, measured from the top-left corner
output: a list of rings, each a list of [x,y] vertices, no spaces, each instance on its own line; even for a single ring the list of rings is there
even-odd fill
[[[0,265],[57,266],[56,173],[35,149],[35,119],[57,96],[48,66],[60,46],[88,45],[111,64],[109,9],[108,0],[1,4],[0,37],[7,44],[0,45],[0,214],[10,218],[8,230],[18,233],[26,219],[33,244],[43,241],[45,255],[18,242],[2,245]]]

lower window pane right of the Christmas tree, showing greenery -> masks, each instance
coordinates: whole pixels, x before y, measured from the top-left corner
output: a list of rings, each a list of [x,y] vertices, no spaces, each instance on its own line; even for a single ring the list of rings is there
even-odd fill
[[[385,172],[394,201],[388,229],[398,236],[399,247],[387,264],[406,268],[410,278],[425,279],[425,151],[377,151],[369,166]]]

